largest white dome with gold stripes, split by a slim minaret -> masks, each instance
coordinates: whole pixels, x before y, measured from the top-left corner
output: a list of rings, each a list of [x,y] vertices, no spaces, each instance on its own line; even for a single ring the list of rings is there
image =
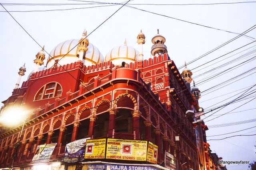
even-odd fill
[[[50,53],[51,57],[48,56],[46,68],[52,67],[55,64],[56,60],[60,60],[58,61],[58,64],[60,65],[70,64],[79,61],[79,57],[77,56],[77,54],[79,54],[77,45],[79,41],[79,39],[69,39],[67,41],[63,41],[62,43],[59,43],[56,47],[54,47],[54,49],[52,49]],[[68,53],[68,51],[70,52]],[[104,62],[104,57],[102,56],[98,48],[95,47],[92,43],[89,43],[88,51],[86,51],[86,54],[83,57],[83,63],[88,66],[102,62]]]

